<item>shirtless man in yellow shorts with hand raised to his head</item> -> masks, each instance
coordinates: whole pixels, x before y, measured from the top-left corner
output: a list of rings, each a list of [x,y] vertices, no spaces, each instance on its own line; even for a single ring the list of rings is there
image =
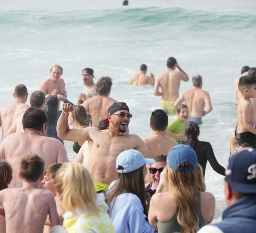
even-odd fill
[[[175,71],[175,68],[179,71]],[[174,57],[169,57],[167,60],[167,70],[159,74],[155,79],[154,95],[162,96],[160,109],[168,115],[176,115],[174,103],[179,97],[180,81],[188,81],[188,75],[178,65]],[[162,92],[159,91],[161,87]]]

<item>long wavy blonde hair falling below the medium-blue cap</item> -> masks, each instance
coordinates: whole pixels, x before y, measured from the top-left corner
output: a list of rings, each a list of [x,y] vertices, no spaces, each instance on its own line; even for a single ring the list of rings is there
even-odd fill
[[[191,167],[190,163],[182,163],[180,167]],[[179,213],[177,222],[184,228],[184,233],[195,233],[199,224],[195,206],[200,200],[200,191],[204,192],[203,170],[199,164],[192,171],[175,171],[169,166],[164,169],[165,190],[171,192]]]

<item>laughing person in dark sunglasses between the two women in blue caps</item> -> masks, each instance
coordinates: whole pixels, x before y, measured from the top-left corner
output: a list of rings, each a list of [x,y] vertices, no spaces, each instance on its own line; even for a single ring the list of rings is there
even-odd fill
[[[155,163],[153,163],[151,167],[148,168],[148,170],[150,171],[152,182],[147,183],[145,186],[146,192],[150,194],[151,197],[153,194],[155,194],[156,188],[158,188],[160,181],[160,173],[166,166],[166,158],[167,155],[156,155],[154,158]]]

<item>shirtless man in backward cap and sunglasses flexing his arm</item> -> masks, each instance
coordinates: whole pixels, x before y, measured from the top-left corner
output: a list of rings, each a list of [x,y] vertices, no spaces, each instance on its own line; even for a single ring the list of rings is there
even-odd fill
[[[120,152],[135,149],[146,158],[154,158],[154,154],[146,148],[138,135],[126,133],[132,116],[126,103],[118,102],[109,107],[108,118],[104,122],[108,126],[106,130],[94,127],[69,129],[67,113],[71,111],[70,104],[63,104],[63,113],[57,122],[57,133],[63,140],[88,141],[90,154],[87,169],[93,177],[96,189],[102,187],[106,190],[112,181],[117,180],[115,160]]]

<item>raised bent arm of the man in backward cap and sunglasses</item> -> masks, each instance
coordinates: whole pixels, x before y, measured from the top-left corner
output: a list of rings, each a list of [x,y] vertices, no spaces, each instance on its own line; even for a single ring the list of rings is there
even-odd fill
[[[69,129],[68,127],[68,113],[73,111],[71,104],[63,104],[63,112],[61,113],[57,122],[57,135],[60,139],[79,142],[90,139],[87,129]]]

